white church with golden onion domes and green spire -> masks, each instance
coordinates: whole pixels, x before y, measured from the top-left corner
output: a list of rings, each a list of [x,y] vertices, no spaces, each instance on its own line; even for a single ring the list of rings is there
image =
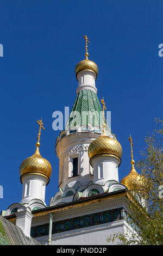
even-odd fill
[[[42,119],[35,153],[20,165],[22,200],[13,203],[2,215],[43,245],[108,245],[111,234],[136,232],[129,205],[136,184],[141,205],[141,175],[134,167],[131,143],[131,172],[120,182],[118,167],[122,147],[108,126],[97,96],[95,81],[98,66],[87,52],[75,68],[77,97],[64,131],[55,142],[59,158],[59,189],[45,203],[46,186],[52,167],[39,151]]]

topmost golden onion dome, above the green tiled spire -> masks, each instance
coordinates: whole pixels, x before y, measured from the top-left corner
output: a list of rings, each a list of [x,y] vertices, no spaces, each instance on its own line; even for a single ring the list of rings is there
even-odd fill
[[[98,75],[98,66],[96,65],[95,62],[92,62],[92,60],[89,60],[89,59],[84,59],[82,60],[81,62],[79,62],[77,65],[76,65],[76,68],[75,68],[75,73],[76,73],[76,77],[77,77],[77,74],[79,71],[82,71],[82,70],[91,70],[93,72],[95,72],[96,74],[96,78],[97,78],[97,75]]]

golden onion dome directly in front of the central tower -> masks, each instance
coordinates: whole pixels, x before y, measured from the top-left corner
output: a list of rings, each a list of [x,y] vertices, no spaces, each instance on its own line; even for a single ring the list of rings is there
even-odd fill
[[[116,139],[110,138],[104,129],[102,136],[95,139],[95,141],[89,145],[88,154],[90,163],[92,157],[98,155],[114,156],[121,162],[122,147],[121,144],[116,141]]]

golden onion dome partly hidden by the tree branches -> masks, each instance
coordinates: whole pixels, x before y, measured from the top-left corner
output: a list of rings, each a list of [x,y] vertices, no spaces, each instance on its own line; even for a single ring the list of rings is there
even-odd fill
[[[134,167],[134,160],[131,160],[130,173],[121,180],[121,184],[126,186],[128,190],[145,192],[147,190],[147,180],[144,176],[136,172]]]

